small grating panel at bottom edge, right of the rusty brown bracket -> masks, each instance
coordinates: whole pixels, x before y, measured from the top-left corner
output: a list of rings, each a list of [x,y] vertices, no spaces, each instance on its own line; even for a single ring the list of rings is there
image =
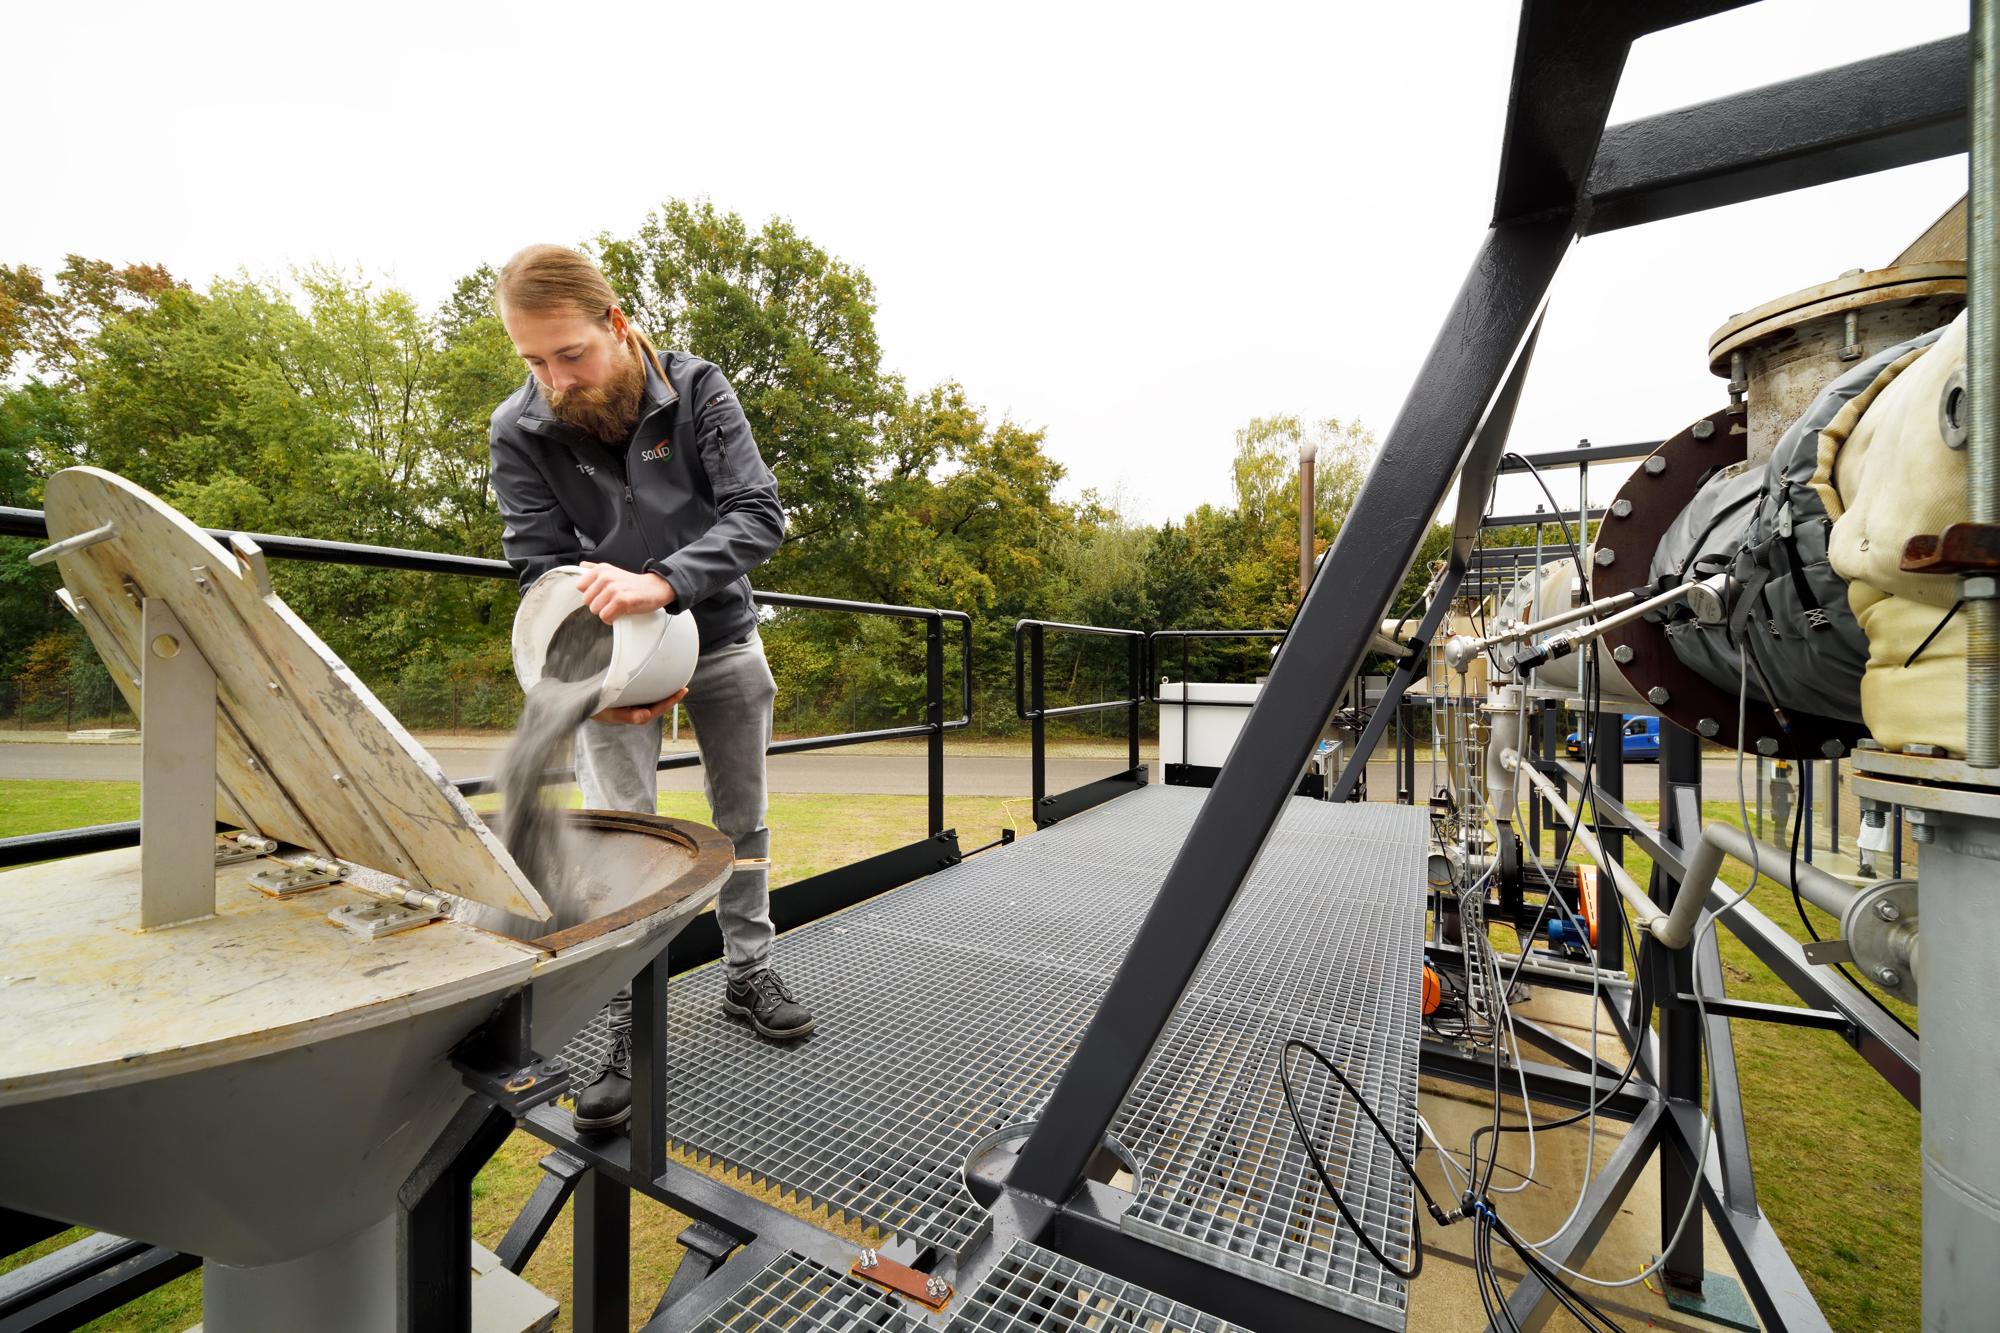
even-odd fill
[[[1192,1305],[1134,1287],[1028,1241],[986,1275],[946,1333],[1236,1333]]]

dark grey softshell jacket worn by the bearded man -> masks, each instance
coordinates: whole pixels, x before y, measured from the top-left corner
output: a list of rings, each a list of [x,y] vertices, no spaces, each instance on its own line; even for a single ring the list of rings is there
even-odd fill
[[[620,450],[556,420],[534,376],[492,418],[502,548],[520,586],[578,560],[656,572],[702,646],[756,626],[750,570],[784,540],[778,482],[736,390],[710,362],[660,352]]]

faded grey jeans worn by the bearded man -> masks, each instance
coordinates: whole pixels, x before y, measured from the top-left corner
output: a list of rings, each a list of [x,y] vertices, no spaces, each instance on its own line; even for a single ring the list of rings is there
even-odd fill
[[[770,747],[770,707],[778,683],[764,660],[756,630],[744,642],[704,648],[688,681],[682,709],[694,723],[702,751],[702,787],[708,809],[734,845],[738,859],[770,855],[764,827],[764,751]],[[576,781],[584,809],[654,813],[660,803],[660,721],[584,723],[576,731]],[[764,867],[738,867],[716,897],[722,927],[722,965],[740,981],[770,963],[770,883]],[[612,1001],[612,1023],[630,1013],[630,993]]]

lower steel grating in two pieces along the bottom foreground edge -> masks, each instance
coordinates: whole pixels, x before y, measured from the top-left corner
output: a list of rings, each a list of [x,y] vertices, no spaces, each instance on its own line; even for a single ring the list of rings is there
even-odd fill
[[[778,1255],[696,1333],[922,1333],[896,1297],[804,1255]],[[1238,1333],[1236,1325],[1016,1241],[958,1303],[946,1333]]]

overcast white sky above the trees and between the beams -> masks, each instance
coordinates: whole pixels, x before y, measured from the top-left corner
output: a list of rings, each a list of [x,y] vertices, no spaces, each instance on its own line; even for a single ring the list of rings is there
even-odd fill
[[[1228,494],[1250,416],[1386,434],[1490,214],[1514,22],[1444,0],[14,6],[0,262],[204,284],[328,260],[436,300],[528,240],[706,194],[862,266],[912,384],[964,382],[1046,428],[1076,486],[1162,520]],[[1964,0],[1766,0],[1642,42],[1612,118],[1964,26]],[[1582,244],[1516,448],[1714,410],[1716,324],[1886,264],[1964,170]]]

